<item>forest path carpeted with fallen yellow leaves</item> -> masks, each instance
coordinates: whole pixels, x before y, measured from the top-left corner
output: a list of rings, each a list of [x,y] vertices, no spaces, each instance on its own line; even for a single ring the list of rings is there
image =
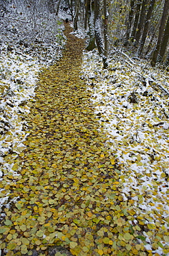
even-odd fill
[[[112,144],[81,79],[85,42],[70,31],[66,24],[63,57],[43,68],[30,101],[26,149],[13,167],[21,173],[6,185],[9,198],[18,200],[4,208],[2,255],[151,256],[143,234],[156,229],[153,248],[165,250],[166,226],[136,221],[132,200],[123,199]]]

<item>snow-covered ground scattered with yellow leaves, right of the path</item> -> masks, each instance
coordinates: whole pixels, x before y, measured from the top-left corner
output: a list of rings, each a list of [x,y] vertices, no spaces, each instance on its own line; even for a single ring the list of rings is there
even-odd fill
[[[115,57],[103,70],[94,50],[83,55],[82,77],[119,165],[123,201],[136,225],[148,225],[146,249],[169,255],[169,95],[159,89],[167,92],[168,73]]]

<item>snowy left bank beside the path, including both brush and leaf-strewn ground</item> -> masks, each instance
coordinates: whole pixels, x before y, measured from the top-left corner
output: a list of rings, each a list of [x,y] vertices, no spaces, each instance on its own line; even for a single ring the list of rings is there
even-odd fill
[[[11,201],[8,183],[19,175],[17,157],[24,149],[37,75],[43,65],[61,57],[63,23],[50,13],[46,1],[0,1],[0,212]],[[15,200],[15,199],[14,199]]]

